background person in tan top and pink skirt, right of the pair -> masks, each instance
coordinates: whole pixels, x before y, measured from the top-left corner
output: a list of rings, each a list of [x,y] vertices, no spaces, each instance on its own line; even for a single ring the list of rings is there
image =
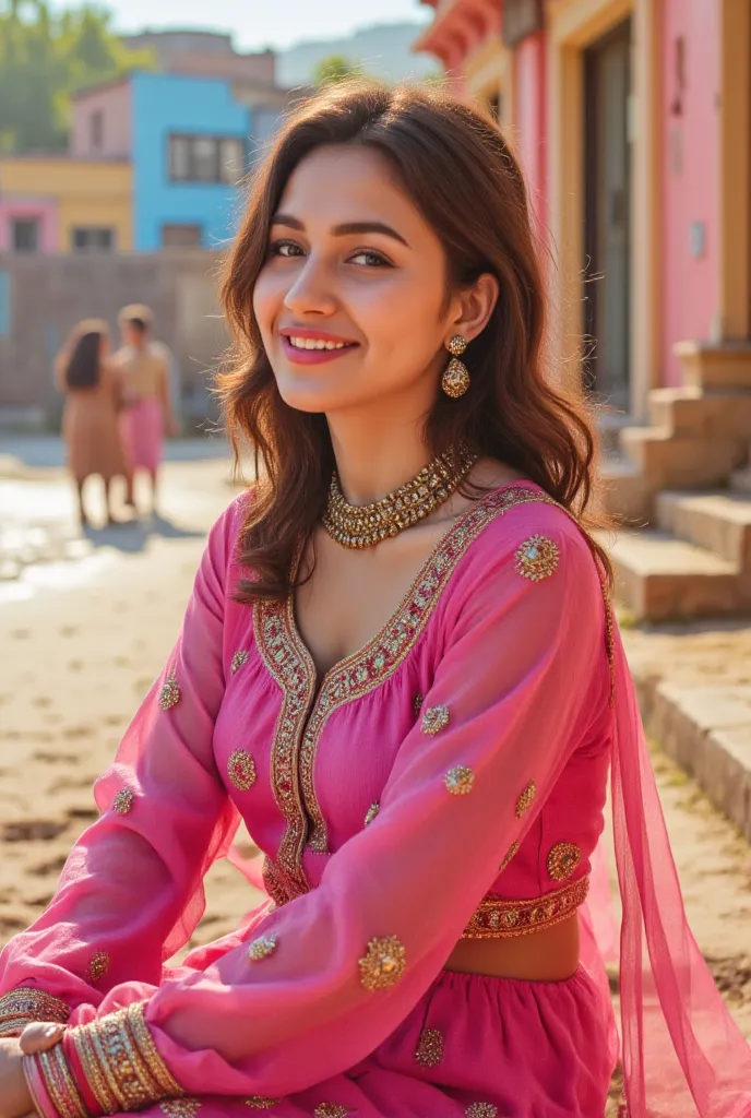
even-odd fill
[[[127,458],[126,503],[135,505],[137,470],[151,480],[151,508],[156,510],[159,467],[165,434],[175,434],[170,401],[170,352],[151,338],[153,315],[133,304],[120,312],[123,347],[114,356],[121,381],[123,410],[121,433]]]

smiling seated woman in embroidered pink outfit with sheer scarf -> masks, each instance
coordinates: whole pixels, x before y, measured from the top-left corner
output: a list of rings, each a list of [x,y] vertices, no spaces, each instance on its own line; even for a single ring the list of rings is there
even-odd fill
[[[26,1032],[0,1042],[0,1116],[602,1118],[584,902],[610,767],[629,1114],[748,1115],[503,138],[437,93],[327,91],[259,170],[224,294],[260,481],[2,956]],[[171,966],[240,817],[267,899]]]

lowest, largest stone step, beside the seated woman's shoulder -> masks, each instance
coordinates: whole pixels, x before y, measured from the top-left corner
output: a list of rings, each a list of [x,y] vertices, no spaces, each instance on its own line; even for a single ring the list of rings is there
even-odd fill
[[[658,529],[620,532],[610,551],[616,593],[639,620],[673,620],[751,609],[751,586],[735,563]]]

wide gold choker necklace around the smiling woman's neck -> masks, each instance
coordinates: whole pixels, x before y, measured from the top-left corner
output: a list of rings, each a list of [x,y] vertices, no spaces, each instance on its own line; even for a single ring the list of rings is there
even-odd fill
[[[334,473],[323,527],[343,548],[372,548],[398,536],[447,501],[467,476],[477,455],[460,452],[457,459],[441,455],[420,470],[417,477],[372,504],[350,504]]]

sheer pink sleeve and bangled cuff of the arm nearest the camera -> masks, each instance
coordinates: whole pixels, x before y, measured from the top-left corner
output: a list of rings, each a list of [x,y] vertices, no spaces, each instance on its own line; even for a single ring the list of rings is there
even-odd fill
[[[545,539],[504,523],[462,569],[421,724],[379,815],[320,887],[206,972],[146,1002],[139,984],[121,986],[76,1015],[59,1059],[93,1115],[124,1100],[304,1089],[371,1052],[435,979],[608,700],[589,547],[558,510],[543,517]],[[540,549],[532,569],[523,543]],[[104,1079],[116,1089],[97,1087]]]

